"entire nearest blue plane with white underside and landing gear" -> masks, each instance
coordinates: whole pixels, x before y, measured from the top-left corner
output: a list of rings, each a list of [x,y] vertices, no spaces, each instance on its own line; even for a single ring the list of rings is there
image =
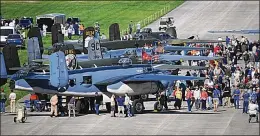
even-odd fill
[[[58,94],[62,96],[94,97],[97,92],[103,97],[112,94],[132,96],[136,113],[144,110],[142,94],[155,94],[165,91],[176,80],[203,80],[192,76],[173,76],[166,71],[154,68],[149,64],[126,63],[117,66],[84,68],[68,70],[65,54],[62,51],[50,55],[50,72],[35,72],[19,70],[8,76],[3,54],[1,56],[1,80],[11,79],[10,88],[16,90],[33,91],[44,94]],[[109,109],[109,102],[105,101]],[[88,111],[89,103],[84,101],[83,109]]]

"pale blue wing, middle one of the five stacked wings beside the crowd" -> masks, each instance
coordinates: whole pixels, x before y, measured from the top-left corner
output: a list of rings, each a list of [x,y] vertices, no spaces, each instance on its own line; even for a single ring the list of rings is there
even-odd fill
[[[216,60],[222,59],[223,57],[208,57],[208,56],[182,56],[182,55],[160,55],[160,60],[166,61],[178,61],[178,60]]]

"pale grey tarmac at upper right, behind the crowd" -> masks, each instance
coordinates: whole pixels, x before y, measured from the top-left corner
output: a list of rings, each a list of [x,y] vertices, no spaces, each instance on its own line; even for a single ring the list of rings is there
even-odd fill
[[[198,35],[200,39],[217,40],[244,35],[259,40],[259,34],[209,33],[224,30],[259,30],[259,1],[186,1],[165,17],[174,17],[179,39]],[[159,31],[159,20],[146,26]]]

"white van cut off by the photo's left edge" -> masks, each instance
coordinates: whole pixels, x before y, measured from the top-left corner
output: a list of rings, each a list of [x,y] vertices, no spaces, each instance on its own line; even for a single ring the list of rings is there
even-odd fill
[[[1,36],[0,46],[5,46],[6,38],[9,34],[17,34],[14,26],[1,26],[0,27],[0,36]]]

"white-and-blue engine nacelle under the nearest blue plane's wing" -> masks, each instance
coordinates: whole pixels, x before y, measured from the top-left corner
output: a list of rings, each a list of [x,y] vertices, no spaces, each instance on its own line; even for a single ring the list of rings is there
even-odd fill
[[[134,91],[128,85],[123,82],[118,82],[116,84],[112,84],[107,86],[107,91],[113,94],[125,94],[125,93],[133,93]]]

